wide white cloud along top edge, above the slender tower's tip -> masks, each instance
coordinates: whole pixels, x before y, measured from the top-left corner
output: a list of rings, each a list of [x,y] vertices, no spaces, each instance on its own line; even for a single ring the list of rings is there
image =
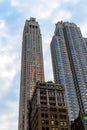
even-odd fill
[[[11,0],[10,5],[16,6],[17,10],[25,15],[25,17],[34,16],[39,19],[47,19],[50,17],[54,9],[60,6],[59,0],[44,1],[44,0],[32,0],[29,4],[28,0]]]

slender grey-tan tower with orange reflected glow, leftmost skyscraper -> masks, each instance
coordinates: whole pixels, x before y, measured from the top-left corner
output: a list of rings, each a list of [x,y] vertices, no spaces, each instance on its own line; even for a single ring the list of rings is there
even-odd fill
[[[19,130],[29,130],[29,100],[37,81],[44,81],[42,38],[35,18],[26,20],[21,59]]]

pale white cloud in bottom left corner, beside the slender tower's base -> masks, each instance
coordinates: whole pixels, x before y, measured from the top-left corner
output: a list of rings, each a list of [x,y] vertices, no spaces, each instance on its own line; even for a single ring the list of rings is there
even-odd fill
[[[0,129],[1,130],[17,130],[18,124],[18,102],[4,102],[0,111]]]

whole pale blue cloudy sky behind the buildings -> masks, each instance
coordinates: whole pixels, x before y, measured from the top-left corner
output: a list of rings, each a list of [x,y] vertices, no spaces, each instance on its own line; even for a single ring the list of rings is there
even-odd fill
[[[87,37],[87,0],[0,0],[0,130],[18,129],[22,32],[39,22],[45,80],[53,80],[50,42],[58,21],[76,23]]]

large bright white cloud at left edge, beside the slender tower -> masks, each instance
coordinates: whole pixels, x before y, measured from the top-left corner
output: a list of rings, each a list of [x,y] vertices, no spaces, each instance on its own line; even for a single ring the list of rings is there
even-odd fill
[[[10,91],[12,81],[19,71],[18,43],[17,34],[12,35],[5,20],[0,20],[0,99]]]

